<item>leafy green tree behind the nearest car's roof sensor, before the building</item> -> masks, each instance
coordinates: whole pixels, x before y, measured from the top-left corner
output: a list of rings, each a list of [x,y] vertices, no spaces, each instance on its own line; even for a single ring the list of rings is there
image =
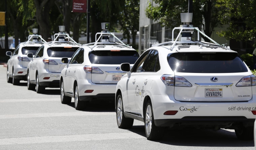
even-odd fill
[[[188,12],[188,0],[154,0],[157,5],[149,3],[146,16],[159,21],[161,26],[178,27],[181,25],[180,13]],[[221,8],[215,7],[215,0],[193,0],[192,25],[198,27],[207,36],[211,36],[214,28],[220,25],[218,15]],[[209,39],[202,37],[205,41]]]

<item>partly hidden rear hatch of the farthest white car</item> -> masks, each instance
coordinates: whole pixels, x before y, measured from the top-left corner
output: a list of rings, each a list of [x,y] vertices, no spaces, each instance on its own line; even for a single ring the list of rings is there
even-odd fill
[[[38,46],[24,46],[21,49],[21,52],[23,54],[23,58],[22,58],[22,67],[27,68],[28,67],[28,63],[30,62],[31,58],[27,57],[28,53],[33,53],[33,55],[35,55],[37,49],[40,47],[40,45]]]

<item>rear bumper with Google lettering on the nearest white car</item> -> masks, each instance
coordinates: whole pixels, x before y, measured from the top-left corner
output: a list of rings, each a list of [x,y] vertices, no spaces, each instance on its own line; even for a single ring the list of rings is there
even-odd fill
[[[245,102],[180,102],[167,95],[153,95],[152,107],[157,126],[201,125],[232,128],[241,124],[253,125],[256,115],[256,95]],[[177,111],[175,115],[164,115]]]

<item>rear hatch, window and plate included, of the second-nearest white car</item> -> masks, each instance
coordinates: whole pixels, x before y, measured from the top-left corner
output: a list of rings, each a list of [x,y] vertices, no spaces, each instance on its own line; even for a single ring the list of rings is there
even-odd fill
[[[117,84],[125,72],[120,71],[120,64],[130,63],[131,66],[139,58],[135,50],[96,50],[89,53],[92,68],[99,73],[92,73],[92,82],[100,84]]]

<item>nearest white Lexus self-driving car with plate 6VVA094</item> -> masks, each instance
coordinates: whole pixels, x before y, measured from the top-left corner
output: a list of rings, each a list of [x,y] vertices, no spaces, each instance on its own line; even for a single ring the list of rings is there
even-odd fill
[[[204,36],[181,25],[172,41],[152,45],[131,69],[121,64],[127,73],[116,88],[119,128],[136,119],[145,123],[148,140],[161,139],[167,127],[187,126],[234,129],[238,139],[253,140],[256,76],[236,51],[209,37],[212,43],[198,41],[199,33]]]

